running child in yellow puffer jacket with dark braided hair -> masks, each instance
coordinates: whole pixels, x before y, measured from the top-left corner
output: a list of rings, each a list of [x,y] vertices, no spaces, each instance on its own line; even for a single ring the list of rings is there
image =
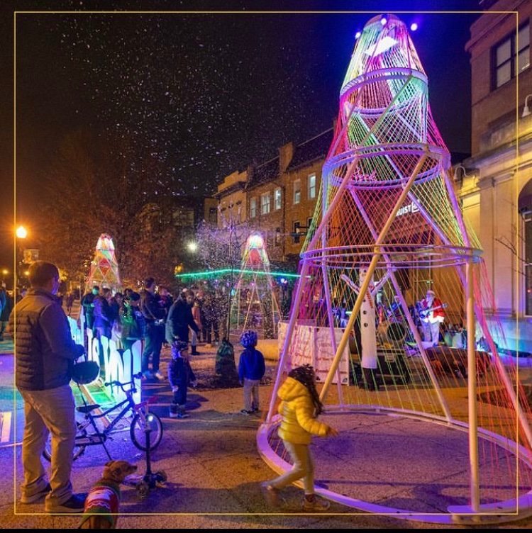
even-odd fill
[[[309,444],[313,434],[328,437],[337,435],[338,432],[316,418],[323,410],[323,405],[319,400],[315,382],[316,375],[312,366],[298,366],[289,372],[287,380],[277,393],[282,400],[279,405],[282,422],[278,434],[282,438],[284,448],[292,457],[294,466],[282,476],[262,483],[262,490],[270,505],[281,503],[279,490],[303,478],[303,510],[326,511],[329,508],[328,501],[317,500],[314,494],[314,463]]]

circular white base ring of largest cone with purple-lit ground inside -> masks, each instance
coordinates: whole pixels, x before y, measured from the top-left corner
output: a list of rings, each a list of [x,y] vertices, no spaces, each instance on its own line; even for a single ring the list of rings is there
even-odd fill
[[[340,430],[333,439],[314,440],[316,479],[324,481],[316,484],[316,493],[323,498],[363,512],[439,524],[503,523],[532,515],[532,490],[520,485],[512,492],[511,468],[502,473],[507,478],[499,479],[500,487],[481,487],[480,512],[474,513],[465,505],[469,501],[469,463],[464,422],[373,405],[348,405],[342,410],[337,406],[322,416]],[[275,431],[279,423],[277,415],[270,424],[262,424],[257,448],[270,468],[284,473],[292,465],[276,451],[283,449]],[[484,456],[481,474],[482,469],[498,466],[497,461],[505,463],[500,459],[503,453],[532,471],[527,449],[482,428],[478,434],[481,443],[496,451],[494,457]],[[383,460],[383,454],[389,455],[390,462]],[[301,482],[298,485],[302,487]],[[499,501],[501,496],[506,499]],[[405,508],[408,504],[419,506],[419,510]]]

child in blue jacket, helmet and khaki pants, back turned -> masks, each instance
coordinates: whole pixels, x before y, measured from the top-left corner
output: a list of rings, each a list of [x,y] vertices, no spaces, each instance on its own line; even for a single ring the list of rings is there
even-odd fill
[[[266,371],[264,356],[255,349],[257,332],[248,330],[240,336],[240,344],[245,350],[240,354],[238,362],[238,378],[244,386],[243,415],[251,415],[259,410],[259,384]]]

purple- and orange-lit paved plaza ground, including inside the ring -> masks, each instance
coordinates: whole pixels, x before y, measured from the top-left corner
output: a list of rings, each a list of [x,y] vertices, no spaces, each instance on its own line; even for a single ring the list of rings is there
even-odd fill
[[[287,504],[281,510],[265,505],[260,482],[275,476],[257,451],[256,434],[260,416],[240,414],[241,388],[211,388],[216,348],[200,347],[202,354],[192,361],[199,388],[189,393],[191,417],[167,417],[171,392],[168,383],[145,386],[143,396],[155,396],[153,411],[163,420],[165,434],[153,454],[155,470],[164,470],[168,483],[139,501],[133,487],[123,487],[123,515],[118,528],[440,528],[443,525],[399,520],[387,515],[367,515],[332,503],[327,515],[301,512],[301,490],[286,490]],[[9,344],[0,346],[9,352]],[[238,352],[238,350],[237,350]],[[170,354],[163,351],[162,371]],[[262,408],[270,398],[274,364],[268,364],[265,384],[260,388]],[[13,416],[13,357],[0,354],[1,410]],[[48,516],[43,504],[21,505],[18,485],[22,476],[20,442],[23,427],[22,403],[17,403],[17,427],[11,423],[10,441],[0,447],[0,468],[4,490],[0,492],[0,524],[3,528],[77,527],[79,517]],[[264,413],[264,411],[263,411]],[[327,415],[340,428],[332,440],[316,439],[316,481],[323,488],[349,493],[379,505],[442,512],[445,505],[465,503],[455,498],[467,486],[467,435],[437,425],[399,417],[378,415]],[[5,431],[4,431],[5,433]],[[357,438],[353,439],[355,435]],[[114,459],[138,464],[145,461],[131,444],[128,432],[115,434],[109,442]],[[436,454],[440,461],[431,461]],[[379,461],[376,461],[379,457]],[[462,460],[460,460],[460,458]],[[86,491],[96,481],[106,462],[101,447],[89,447],[75,461],[74,490]],[[392,464],[390,461],[396,461]],[[490,460],[490,459],[487,459]],[[397,464],[399,461],[399,464]],[[393,468],[392,468],[393,466]],[[399,468],[398,468],[399,467]],[[393,471],[393,473],[392,473]],[[400,473],[400,475],[398,474]],[[13,479],[16,476],[16,481]],[[419,504],[419,502],[422,502]],[[509,527],[530,527],[531,519]]]

